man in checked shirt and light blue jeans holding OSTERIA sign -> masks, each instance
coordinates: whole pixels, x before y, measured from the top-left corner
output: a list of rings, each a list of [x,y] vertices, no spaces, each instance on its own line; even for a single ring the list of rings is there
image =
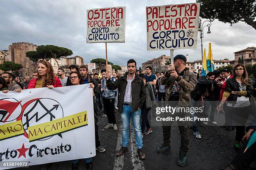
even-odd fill
[[[119,77],[118,80],[111,82],[107,80],[109,90],[118,88],[118,110],[122,118],[122,148],[116,153],[116,156],[122,156],[128,151],[127,144],[129,139],[130,119],[133,121],[135,131],[135,142],[137,145],[137,153],[141,160],[146,159],[143,152],[143,141],[141,133],[141,107],[146,100],[146,91],[141,77],[135,74],[136,61],[133,59],[128,60],[127,69],[128,73]],[[105,77],[109,77],[108,72]]]

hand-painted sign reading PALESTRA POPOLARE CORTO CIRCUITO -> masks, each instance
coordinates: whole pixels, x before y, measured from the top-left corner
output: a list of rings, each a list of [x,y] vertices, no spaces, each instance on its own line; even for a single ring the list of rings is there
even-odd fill
[[[200,3],[146,7],[147,50],[197,47]]]

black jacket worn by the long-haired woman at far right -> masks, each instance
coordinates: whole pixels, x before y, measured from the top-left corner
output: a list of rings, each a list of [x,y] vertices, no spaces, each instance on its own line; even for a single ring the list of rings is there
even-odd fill
[[[245,97],[252,97],[253,96],[253,80],[249,80],[249,85],[246,86],[246,96]],[[232,91],[240,91],[239,83],[236,81],[235,77],[229,78],[226,80],[226,88],[225,92],[231,93]],[[236,101],[238,95],[230,94],[228,97],[228,101]],[[251,99],[250,99],[251,100]]]

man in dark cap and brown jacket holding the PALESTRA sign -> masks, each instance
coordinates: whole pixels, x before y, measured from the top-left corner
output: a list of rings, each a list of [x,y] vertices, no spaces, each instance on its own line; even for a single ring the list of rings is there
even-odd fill
[[[178,107],[190,107],[190,93],[197,84],[197,75],[185,67],[186,61],[184,55],[176,55],[174,57],[174,65],[170,65],[169,70],[161,78],[161,85],[167,85],[165,100],[172,101],[174,107],[176,105]],[[185,112],[184,115],[189,117],[188,112]],[[178,124],[179,134],[181,135],[178,165],[184,166],[189,145],[189,123],[180,121]],[[171,125],[163,126],[164,143],[157,149],[158,153],[164,153],[164,151],[171,149]]]

